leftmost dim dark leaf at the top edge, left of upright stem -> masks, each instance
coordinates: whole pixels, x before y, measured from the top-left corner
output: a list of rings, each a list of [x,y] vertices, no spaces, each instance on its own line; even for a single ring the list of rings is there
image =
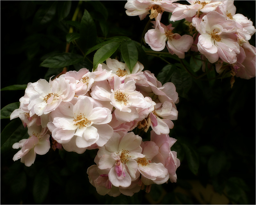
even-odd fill
[[[35,21],[39,24],[46,24],[50,22],[55,16],[57,9],[57,1],[47,1],[43,4],[35,14]]]

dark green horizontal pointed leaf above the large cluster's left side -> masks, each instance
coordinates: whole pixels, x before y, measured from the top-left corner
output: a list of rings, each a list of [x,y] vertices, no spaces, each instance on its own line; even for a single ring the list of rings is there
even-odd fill
[[[76,64],[84,59],[83,56],[75,53],[58,53],[46,58],[40,66],[50,68],[60,68]]]

